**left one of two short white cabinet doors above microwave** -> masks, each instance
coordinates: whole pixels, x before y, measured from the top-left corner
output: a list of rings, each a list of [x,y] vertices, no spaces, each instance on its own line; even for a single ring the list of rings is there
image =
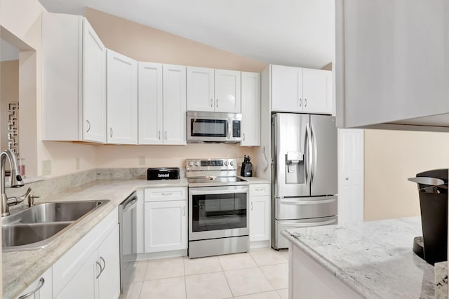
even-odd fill
[[[214,69],[187,67],[187,110],[214,111]]]

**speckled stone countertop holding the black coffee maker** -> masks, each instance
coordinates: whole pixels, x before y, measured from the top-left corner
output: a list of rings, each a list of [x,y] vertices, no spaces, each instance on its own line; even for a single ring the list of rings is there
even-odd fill
[[[421,220],[400,218],[286,230],[293,242],[365,298],[434,298],[434,267],[413,253]]]

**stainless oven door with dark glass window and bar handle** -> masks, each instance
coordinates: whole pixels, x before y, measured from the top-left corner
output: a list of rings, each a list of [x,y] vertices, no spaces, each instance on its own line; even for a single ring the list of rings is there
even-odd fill
[[[189,241],[249,234],[248,185],[189,187]]]

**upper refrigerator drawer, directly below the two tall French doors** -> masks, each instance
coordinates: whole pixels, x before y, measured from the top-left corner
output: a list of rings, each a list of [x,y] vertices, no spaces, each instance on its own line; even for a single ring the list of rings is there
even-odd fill
[[[276,198],[276,220],[319,218],[337,215],[337,196]]]

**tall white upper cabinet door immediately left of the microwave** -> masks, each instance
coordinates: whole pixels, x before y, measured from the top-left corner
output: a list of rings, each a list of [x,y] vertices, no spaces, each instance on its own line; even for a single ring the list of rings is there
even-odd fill
[[[163,65],[163,144],[186,145],[186,75],[181,65]]]

